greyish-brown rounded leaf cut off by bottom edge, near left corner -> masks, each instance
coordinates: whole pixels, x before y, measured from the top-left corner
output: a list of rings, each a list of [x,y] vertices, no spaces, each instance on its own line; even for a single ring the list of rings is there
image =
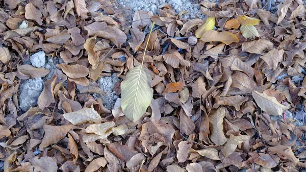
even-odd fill
[[[51,157],[34,157],[30,161],[34,167],[33,172],[57,172],[58,166]]]

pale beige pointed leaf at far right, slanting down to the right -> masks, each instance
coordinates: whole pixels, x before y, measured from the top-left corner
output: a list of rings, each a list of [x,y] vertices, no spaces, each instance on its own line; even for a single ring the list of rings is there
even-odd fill
[[[253,91],[252,96],[257,105],[268,114],[275,116],[282,115],[285,110],[289,109],[288,107],[278,103],[275,97],[268,96],[265,93]]]

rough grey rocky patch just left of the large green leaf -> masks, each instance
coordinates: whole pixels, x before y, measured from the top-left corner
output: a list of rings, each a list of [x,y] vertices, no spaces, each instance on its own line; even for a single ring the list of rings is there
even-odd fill
[[[106,93],[106,95],[101,95],[104,107],[112,110],[118,96],[115,94],[114,86],[119,81],[116,73],[113,73],[111,77],[102,77],[99,79],[100,88]]]

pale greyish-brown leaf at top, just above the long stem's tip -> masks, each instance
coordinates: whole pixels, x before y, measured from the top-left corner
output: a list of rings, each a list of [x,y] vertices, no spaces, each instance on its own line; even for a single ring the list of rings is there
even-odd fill
[[[144,28],[148,26],[150,23],[150,15],[148,12],[143,10],[138,10],[134,13],[133,21],[132,21],[132,28]]]

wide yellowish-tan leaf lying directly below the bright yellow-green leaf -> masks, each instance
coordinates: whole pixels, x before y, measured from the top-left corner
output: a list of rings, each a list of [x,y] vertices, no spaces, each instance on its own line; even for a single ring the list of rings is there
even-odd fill
[[[239,42],[239,38],[231,32],[217,31],[206,31],[203,33],[200,40],[203,42],[219,41],[225,43],[226,45],[229,45],[233,42]]]

